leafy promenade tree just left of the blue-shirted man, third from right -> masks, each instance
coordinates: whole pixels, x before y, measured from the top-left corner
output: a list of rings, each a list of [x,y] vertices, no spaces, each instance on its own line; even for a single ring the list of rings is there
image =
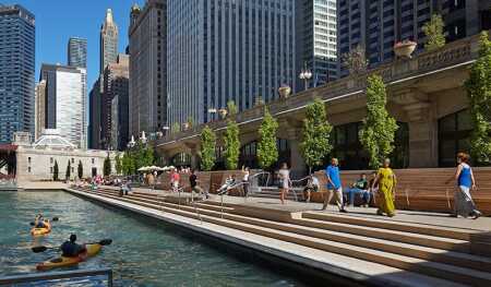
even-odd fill
[[[333,150],[331,144],[332,130],[333,127],[327,121],[324,103],[319,98],[314,99],[312,104],[307,106],[300,143],[300,151],[310,172],[312,167],[321,165],[324,157]]]

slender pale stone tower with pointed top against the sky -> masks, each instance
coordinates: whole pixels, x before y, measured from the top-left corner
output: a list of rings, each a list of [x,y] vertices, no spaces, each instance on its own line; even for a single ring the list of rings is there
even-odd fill
[[[112,10],[106,12],[106,21],[100,27],[100,68],[99,73],[118,57],[118,26],[112,19]]]

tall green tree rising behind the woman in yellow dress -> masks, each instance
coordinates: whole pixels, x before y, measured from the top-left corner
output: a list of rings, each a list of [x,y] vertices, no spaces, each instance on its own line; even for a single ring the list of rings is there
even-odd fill
[[[369,153],[370,167],[378,168],[394,150],[398,127],[385,107],[387,95],[380,75],[371,75],[367,86],[367,117],[360,130],[360,142]]]

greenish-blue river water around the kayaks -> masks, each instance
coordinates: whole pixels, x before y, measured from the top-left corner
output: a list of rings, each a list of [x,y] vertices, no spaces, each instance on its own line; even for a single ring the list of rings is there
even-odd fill
[[[59,217],[51,234],[33,238],[37,213]],[[110,267],[115,286],[308,286],[254,253],[228,243],[93,203],[65,192],[0,192],[0,276],[35,273],[57,251],[33,253],[33,246],[59,246],[70,234],[79,242],[110,238],[100,254],[64,270]],[[72,279],[52,286],[104,286],[104,278]],[[46,286],[45,284],[23,286]]]

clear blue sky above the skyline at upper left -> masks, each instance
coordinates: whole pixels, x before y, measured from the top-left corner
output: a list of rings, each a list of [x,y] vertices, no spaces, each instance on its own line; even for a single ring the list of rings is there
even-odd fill
[[[36,82],[41,63],[67,64],[70,37],[87,39],[87,92],[99,73],[99,32],[106,10],[112,9],[119,28],[119,52],[128,45],[130,9],[143,0],[0,0],[21,4],[36,16]]]

